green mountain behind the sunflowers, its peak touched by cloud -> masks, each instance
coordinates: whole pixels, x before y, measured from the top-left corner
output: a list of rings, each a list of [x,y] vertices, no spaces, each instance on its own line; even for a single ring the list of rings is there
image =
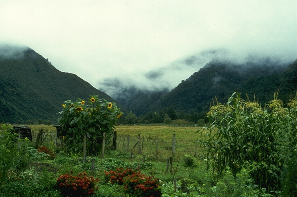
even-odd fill
[[[114,101],[77,75],[57,70],[30,48],[3,46],[0,68],[0,122],[42,119],[55,123],[66,100],[95,94]]]

